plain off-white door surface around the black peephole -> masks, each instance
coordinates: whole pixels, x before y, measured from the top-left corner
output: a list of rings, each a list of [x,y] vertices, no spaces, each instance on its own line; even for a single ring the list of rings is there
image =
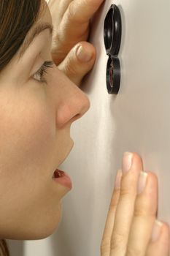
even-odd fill
[[[170,223],[170,1],[114,1],[123,18],[117,96],[109,95],[105,84],[103,23],[112,3],[105,1],[91,31],[97,59],[82,86],[91,108],[72,125],[75,146],[61,165],[74,184],[63,199],[61,225],[50,238],[24,241],[20,255],[100,255],[114,178],[124,151],[138,152],[144,169],[158,175],[158,218]]]

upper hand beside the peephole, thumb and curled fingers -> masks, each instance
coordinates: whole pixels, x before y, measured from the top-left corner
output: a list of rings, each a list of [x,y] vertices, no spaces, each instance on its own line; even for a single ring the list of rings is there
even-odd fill
[[[48,6],[53,19],[54,33],[52,58],[58,69],[63,71],[77,86],[93,68],[96,49],[88,40],[90,18],[104,0],[50,0]],[[79,46],[82,46],[79,50]],[[77,50],[84,51],[77,58]]]

